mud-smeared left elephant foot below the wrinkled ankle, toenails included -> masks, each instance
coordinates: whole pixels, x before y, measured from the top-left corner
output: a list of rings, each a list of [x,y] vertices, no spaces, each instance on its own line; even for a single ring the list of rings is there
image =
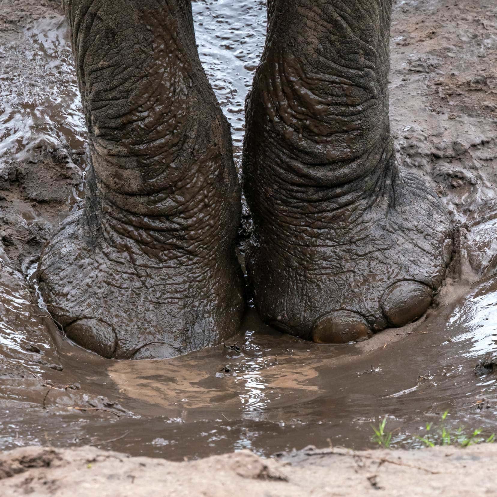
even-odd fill
[[[238,331],[243,302],[234,256],[218,264],[220,257],[147,253],[106,230],[105,220],[92,221],[84,210],[71,216],[39,263],[40,291],[70,339],[106,358],[152,359],[216,345]]]

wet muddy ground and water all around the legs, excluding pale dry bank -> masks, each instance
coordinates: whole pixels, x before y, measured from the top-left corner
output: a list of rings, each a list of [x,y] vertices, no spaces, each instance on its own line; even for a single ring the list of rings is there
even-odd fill
[[[0,0],[0,449],[94,444],[181,460],[373,446],[388,416],[397,446],[447,424],[497,431],[497,7],[397,1],[392,128],[405,166],[431,181],[458,232],[451,278],[421,322],[362,344],[304,342],[251,310],[226,346],[163,361],[110,361],[63,338],[30,276],[52,226],[78,209],[87,162],[81,102],[58,2]],[[232,124],[262,50],[261,0],[193,3],[197,43]],[[483,54],[482,57],[479,54]]]

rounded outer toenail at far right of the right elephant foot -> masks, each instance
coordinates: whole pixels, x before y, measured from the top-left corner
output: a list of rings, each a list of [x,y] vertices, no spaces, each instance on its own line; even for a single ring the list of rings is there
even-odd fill
[[[387,288],[381,309],[388,322],[400,327],[420,318],[433,300],[433,290],[418,281],[398,281]]]

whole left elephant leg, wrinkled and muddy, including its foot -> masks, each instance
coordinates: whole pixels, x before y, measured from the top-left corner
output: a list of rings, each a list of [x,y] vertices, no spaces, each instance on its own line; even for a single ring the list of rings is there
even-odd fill
[[[104,357],[215,345],[243,312],[240,185],[190,0],[64,0],[91,165],[84,208],[45,246],[40,290]]]

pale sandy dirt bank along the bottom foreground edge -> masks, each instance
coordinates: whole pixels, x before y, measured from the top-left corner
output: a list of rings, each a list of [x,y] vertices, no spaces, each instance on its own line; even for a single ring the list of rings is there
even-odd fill
[[[487,496],[497,447],[424,451],[315,450],[262,459],[248,450],[174,463],[93,447],[25,447],[0,456],[0,491],[19,495]]]

